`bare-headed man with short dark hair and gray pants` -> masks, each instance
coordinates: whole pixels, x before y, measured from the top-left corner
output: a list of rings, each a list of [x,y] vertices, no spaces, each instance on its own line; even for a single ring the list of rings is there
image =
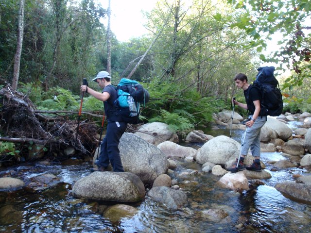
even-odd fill
[[[262,126],[266,123],[267,116],[263,116],[263,114],[260,113],[260,91],[257,87],[253,87],[249,83],[247,83],[247,76],[243,73],[237,74],[234,78],[234,81],[236,86],[244,91],[246,104],[240,103],[237,100],[232,101],[239,107],[248,110],[250,115],[247,117],[248,120],[246,121],[246,135],[244,135],[245,137],[242,137],[245,138],[245,140],[242,144],[240,160],[237,159],[236,163],[227,170],[231,172],[244,170],[244,158],[247,155],[248,150],[251,149],[252,155],[255,159],[251,166],[246,166],[246,169],[261,171],[260,130]]]

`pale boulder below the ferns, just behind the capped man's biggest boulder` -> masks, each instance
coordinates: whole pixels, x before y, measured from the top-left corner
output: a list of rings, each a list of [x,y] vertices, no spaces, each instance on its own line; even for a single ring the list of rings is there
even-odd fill
[[[161,122],[144,124],[135,134],[155,146],[165,141],[179,142],[178,135],[170,130],[167,124]]]

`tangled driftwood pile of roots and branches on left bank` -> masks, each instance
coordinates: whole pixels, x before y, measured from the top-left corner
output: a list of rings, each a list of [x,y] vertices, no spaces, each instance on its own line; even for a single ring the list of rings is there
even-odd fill
[[[77,113],[71,112],[71,114]],[[35,143],[48,148],[47,155],[55,155],[65,148],[74,148],[80,156],[92,156],[98,145],[98,126],[94,123],[56,115],[45,116],[33,102],[21,92],[9,86],[0,90],[0,141]]]

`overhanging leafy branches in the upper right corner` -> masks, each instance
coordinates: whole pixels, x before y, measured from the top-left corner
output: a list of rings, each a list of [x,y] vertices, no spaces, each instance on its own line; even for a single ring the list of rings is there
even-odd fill
[[[237,9],[236,15],[223,16],[232,28],[238,27],[252,37],[247,47],[259,52],[267,47],[273,34],[279,33],[281,45],[270,58],[261,54],[263,61],[292,69],[302,79],[310,77],[311,41],[309,0],[228,0]],[[283,66],[284,65],[284,66]],[[306,70],[307,72],[304,72]],[[296,84],[296,83],[291,83]]]

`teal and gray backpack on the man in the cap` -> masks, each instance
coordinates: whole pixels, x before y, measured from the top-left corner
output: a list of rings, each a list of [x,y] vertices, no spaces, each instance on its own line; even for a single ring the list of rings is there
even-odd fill
[[[139,123],[140,105],[149,101],[149,93],[135,80],[122,78],[117,86],[117,100],[114,101],[118,113],[124,122]]]

